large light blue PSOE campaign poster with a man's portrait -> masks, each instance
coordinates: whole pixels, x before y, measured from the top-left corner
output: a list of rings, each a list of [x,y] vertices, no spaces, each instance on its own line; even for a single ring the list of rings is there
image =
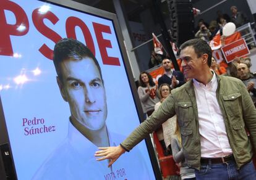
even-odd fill
[[[155,179],[145,141],[110,168],[94,157],[92,139],[119,145],[140,123],[111,19],[49,2],[1,0],[0,27],[1,113],[18,179]],[[78,95],[62,87],[54,67],[54,45],[62,38],[85,44],[100,65],[87,57],[62,69],[72,92],[83,92]],[[102,108],[88,109],[98,99]],[[70,122],[82,113],[89,123]],[[105,127],[105,135],[88,137],[78,126],[93,133]]]

